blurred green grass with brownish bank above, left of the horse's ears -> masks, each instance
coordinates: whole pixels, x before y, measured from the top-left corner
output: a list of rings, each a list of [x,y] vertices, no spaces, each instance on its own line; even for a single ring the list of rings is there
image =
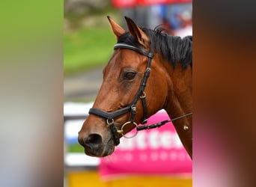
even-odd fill
[[[73,76],[109,60],[115,36],[106,16],[119,21],[111,1],[64,2],[64,76]]]

